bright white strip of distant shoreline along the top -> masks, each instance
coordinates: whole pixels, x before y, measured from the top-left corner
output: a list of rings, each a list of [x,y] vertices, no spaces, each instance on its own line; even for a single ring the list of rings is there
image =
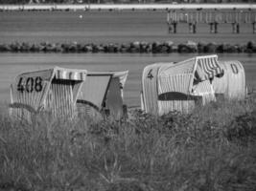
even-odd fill
[[[256,4],[26,4],[0,5],[1,11],[122,11],[122,10],[256,10]]]

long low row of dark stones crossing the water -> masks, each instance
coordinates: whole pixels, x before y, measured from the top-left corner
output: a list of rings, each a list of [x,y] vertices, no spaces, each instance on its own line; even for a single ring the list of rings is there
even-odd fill
[[[256,43],[249,41],[245,44],[227,43],[186,43],[175,44],[166,42],[131,42],[109,44],[86,43],[49,43],[38,44],[14,42],[0,44],[0,53],[256,53]]]

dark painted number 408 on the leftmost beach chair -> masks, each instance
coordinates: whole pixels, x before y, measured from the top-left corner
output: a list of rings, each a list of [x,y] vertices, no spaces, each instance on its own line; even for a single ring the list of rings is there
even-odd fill
[[[27,79],[24,79],[23,77],[19,78],[18,85],[17,85],[17,91],[23,93],[26,91],[27,93],[32,92],[41,92],[42,91],[42,78],[37,77],[28,77]]]

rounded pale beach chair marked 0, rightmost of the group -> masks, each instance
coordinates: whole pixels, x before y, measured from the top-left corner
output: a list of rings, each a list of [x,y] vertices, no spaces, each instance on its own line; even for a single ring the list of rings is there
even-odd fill
[[[244,67],[239,61],[221,61],[224,73],[213,79],[214,91],[228,99],[244,99],[246,95]]]

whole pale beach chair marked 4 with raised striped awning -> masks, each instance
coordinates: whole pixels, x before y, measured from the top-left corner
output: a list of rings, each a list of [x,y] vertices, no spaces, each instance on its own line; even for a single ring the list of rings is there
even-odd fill
[[[154,115],[188,113],[195,102],[215,100],[211,80],[221,74],[217,55],[147,66],[142,76],[142,109]]]

